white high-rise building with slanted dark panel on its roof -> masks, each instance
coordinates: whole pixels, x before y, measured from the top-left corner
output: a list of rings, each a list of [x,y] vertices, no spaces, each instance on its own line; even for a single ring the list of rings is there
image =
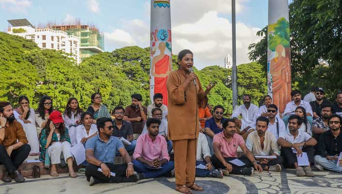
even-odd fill
[[[62,50],[65,53],[71,54],[70,57],[74,58],[77,64],[81,63],[79,37],[49,28],[35,29],[27,19],[7,21],[11,24],[7,33],[31,39],[41,49]]]

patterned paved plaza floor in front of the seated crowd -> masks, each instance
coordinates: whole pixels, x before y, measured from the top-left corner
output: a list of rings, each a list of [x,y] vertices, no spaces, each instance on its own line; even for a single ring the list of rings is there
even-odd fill
[[[314,170],[314,169],[313,169]],[[342,175],[314,170],[315,177],[296,177],[294,169],[254,173],[252,176],[230,175],[224,178],[196,178],[204,192],[195,194],[341,194]],[[89,186],[84,175],[58,178],[44,175],[26,178],[24,183],[3,183],[0,194],[179,194],[174,178],[144,179],[136,183],[102,183]]]

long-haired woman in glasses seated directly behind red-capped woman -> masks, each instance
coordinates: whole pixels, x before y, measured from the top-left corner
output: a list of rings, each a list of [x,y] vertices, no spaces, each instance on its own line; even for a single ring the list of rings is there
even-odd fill
[[[43,128],[46,127],[50,113],[53,111],[52,100],[49,96],[43,96],[39,100],[38,109],[36,110],[35,116],[35,126],[37,130],[37,135],[39,136]]]

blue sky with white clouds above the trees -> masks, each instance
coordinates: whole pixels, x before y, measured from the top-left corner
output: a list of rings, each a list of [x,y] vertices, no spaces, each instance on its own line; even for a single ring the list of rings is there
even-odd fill
[[[105,50],[149,46],[150,0],[0,0],[0,31],[8,19],[27,18],[34,26],[80,19],[105,36]],[[194,52],[195,66],[224,65],[232,55],[231,0],[170,0],[172,53]],[[268,0],[236,0],[237,64],[248,60],[248,45],[267,25]]]

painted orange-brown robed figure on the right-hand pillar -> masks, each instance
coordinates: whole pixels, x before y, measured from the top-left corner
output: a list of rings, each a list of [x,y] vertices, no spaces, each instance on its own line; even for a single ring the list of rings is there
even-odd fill
[[[277,57],[271,60],[270,74],[272,75],[273,103],[278,106],[280,113],[284,113],[285,106],[291,101],[291,67],[290,60],[282,56],[284,47],[277,45]]]

